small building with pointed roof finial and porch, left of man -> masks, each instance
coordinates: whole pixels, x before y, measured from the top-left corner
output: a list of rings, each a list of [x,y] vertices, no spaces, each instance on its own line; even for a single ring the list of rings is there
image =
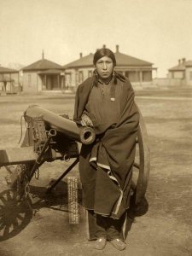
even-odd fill
[[[43,90],[62,90],[64,86],[63,67],[53,61],[42,59],[20,70],[23,91],[37,93]]]

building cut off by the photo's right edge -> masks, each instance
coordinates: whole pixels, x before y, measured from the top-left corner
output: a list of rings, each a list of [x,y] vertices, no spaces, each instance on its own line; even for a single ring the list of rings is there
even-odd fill
[[[178,64],[168,70],[169,79],[180,80],[181,85],[192,85],[192,61],[185,58],[178,60]]]

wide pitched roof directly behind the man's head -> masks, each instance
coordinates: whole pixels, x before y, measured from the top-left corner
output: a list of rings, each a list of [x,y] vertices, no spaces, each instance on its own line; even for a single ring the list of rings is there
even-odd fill
[[[143,61],[132,57],[130,55],[125,55],[118,52],[114,53],[117,66],[152,66],[153,63],[148,61]],[[93,54],[86,55],[84,57],[79,58],[79,60],[73,61],[68,63],[67,65],[63,66],[63,68],[73,68],[73,67],[93,67]]]

